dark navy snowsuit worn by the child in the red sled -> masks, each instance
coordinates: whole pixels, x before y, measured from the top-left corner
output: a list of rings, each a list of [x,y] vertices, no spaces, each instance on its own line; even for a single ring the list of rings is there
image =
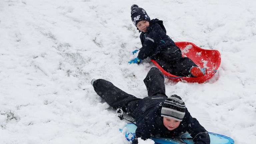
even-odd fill
[[[191,59],[182,57],[181,50],[174,41],[166,35],[163,21],[153,19],[149,22],[147,32],[141,32],[142,48],[138,53],[139,59],[150,57],[162,68],[176,76],[191,76],[190,69],[197,66]]]

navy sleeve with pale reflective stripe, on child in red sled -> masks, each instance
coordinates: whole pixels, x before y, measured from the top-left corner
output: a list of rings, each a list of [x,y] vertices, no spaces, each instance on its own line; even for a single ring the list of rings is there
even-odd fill
[[[143,38],[144,36],[144,38]],[[166,36],[165,31],[160,27],[159,24],[154,23],[150,27],[148,27],[146,34],[140,36],[142,48],[138,54],[139,59],[145,59],[149,55],[154,54],[155,49],[154,46],[157,45],[160,40]]]

